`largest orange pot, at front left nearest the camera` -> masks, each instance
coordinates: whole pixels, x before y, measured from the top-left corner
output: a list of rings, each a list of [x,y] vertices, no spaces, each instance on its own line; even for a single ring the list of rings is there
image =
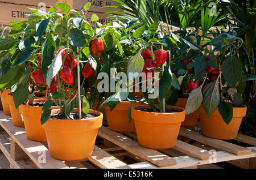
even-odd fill
[[[52,113],[58,111],[52,110]],[[78,109],[73,112],[78,112]],[[52,157],[63,161],[75,161],[92,155],[98,128],[102,126],[103,115],[96,110],[90,110],[89,113],[97,114],[98,117],[79,120],[49,118],[42,125],[46,130]]]

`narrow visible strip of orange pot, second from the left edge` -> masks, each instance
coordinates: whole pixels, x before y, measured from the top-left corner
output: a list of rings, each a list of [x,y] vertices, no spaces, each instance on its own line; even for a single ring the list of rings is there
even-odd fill
[[[16,109],[13,96],[11,96],[9,93],[6,94],[7,101],[9,102],[9,108],[11,113],[11,119],[13,120],[13,125],[18,127],[24,127],[24,122],[22,121],[22,118],[19,113],[19,108]]]

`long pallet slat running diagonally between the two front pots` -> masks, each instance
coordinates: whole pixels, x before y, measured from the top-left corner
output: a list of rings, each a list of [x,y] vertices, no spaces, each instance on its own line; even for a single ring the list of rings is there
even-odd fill
[[[176,164],[173,158],[153,149],[144,148],[134,140],[127,138],[118,132],[111,131],[109,128],[101,127],[98,131],[98,136],[108,139],[110,142],[119,145],[133,155],[139,156],[159,167]]]

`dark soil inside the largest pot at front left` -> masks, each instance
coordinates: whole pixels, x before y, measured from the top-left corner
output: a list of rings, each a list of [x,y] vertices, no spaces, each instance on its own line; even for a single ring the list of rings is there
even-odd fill
[[[84,114],[82,113],[82,119],[90,119],[90,118],[96,118],[98,117],[97,114],[89,113],[89,114]],[[79,119],[79,113],[70,113],[68,116],[65,116],[60,113],[55,113],[51,115],[51,118],[53,119],[70,119],[70,120],[76,120]]]

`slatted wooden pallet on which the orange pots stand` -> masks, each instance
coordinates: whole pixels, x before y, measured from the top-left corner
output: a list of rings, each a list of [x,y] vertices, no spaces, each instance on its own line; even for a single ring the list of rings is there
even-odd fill
[[[216,150],[216,161],[213,162],[256,168],[256,139],[238,135],[237,140],[253,147],[244,148],[207,138],[199,132],[181,127],[174,148],[156,151],[139,145],[134,132],[121,134],[102,126],[92,156],[80,161],[59,161],[51,157],[47,143],[27,139],[24,128],[14,126],[10,116],[0,111],[0,149],[10,168],[222,168],[212,163],[212,149]],[[45,157],[45,163],[42,157]]]

